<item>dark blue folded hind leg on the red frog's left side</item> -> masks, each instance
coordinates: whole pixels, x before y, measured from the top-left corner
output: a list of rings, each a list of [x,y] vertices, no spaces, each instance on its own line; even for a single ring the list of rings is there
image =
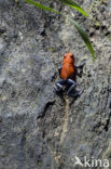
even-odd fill
[[[57,81],[56,82],[56,84],[55,84],[55,91],[58,93],[58,92],[61,92],[63,91],[63,87],[65,86],[67,83],[67,80],[64,80],[64,79],[61,79],[61,80],[59,80],[59,81]]]

